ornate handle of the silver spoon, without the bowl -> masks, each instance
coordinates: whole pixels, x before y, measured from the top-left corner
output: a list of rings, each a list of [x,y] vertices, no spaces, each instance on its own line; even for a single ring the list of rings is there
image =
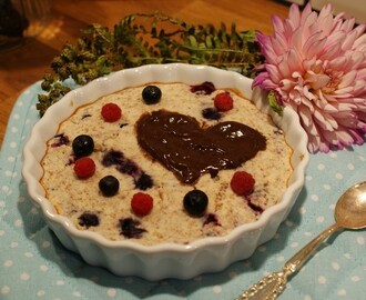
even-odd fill
[[[257,283],[254,283],[250,289],[242,293],[235,300],[274,300],[285,289],[287,277],[295,273],[309,259],[319,244],[326,240],[332,233],[338,230],[338,224],[333,224],[321,232],[316,238],[309,241],[296,254],[286,261],[284,268],[279,272],[271,273],[264,277]]]

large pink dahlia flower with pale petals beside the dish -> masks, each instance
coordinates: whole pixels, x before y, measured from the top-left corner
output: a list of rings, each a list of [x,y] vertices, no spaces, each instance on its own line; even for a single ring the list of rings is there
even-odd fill
[[[311,152],[362,144],[366,132],[366,24],[296,4],[273,17],[274,34],[256,38],[265,57],[253,87],[294,109]]]

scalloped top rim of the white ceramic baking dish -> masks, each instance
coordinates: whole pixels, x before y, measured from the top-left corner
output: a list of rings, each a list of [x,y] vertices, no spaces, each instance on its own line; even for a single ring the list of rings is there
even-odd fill
[[[33,167],[35,167],[34,164],[37,164],[37,161],[40,162],[34,157],[34,151],[40,151],[40,147],[34,144],[37,142],[37,138],[34,138],[34,137],[37,137],[37,133],[39,133],[40,131],[42,131],[42,129],[44,129],[45,124],[50,121],[50,119],[52,119],[52,117],[60,109],[62,109],[64,106],[67,106],[68,101],[70,101],[70,99],[82,97],[84,90],[87,90],[87,89],[91,90],[91,89],[103,87],[103,84],[105,84],[105,83],[108,84],[108,81],[110,81],[114,77],[130,76],[130,74],[133,74],[134,72],[144,72],[144,71],[153,71],[153,72],[172,71],[172,70],[174,71],[176,69],[182,70],[182,71],[185,71],[185,70],[193,71],[193,70],[203,69],[207,72],[218,73],[220,76],[221,76],[221,72],[225,72],[225,73],[223,73],[223,76],[230,74],[230,77],[233,77],[233,78],[240,77],[241,79],[246,81],[247,84],[251,84],[251,82],[252,82],[251,79],[244,78],[243,76],[241,76],[240,73],[237,73],[235,71],[224,71],[224,70],[216,69],[214,67],[182,64],[182,63],[146,64],[143,67],[138,67],[138,68],[133,68],[133,69],[124,69],[124,70],[118,71],[118,72],[114,72],[110,76],[99,78],[81,88],[77,88],[77,89],[70,91],[68,94],[64,96],[62,101],[59,101],[55,104],[53,104],[51,108],[49,108],[48,111],[45,112],[45,114],[34,124],[34,127],[31,131],[31,136],[30,136],[29,140],[27,141],[24,150],[23,150],[24,164],[23,164],[23,169],[22,169],[22,174],[24,177],[26,182],[28,183],[28,191],[29,191],[31,198],[33,199],[33,201],[35,201],[41,207],[43,214],[48,219],[47,220],[48,222],[52,221],[52,222],[58,223],[59,226],[64,228],[71,237],[92,240],[93,242],[95,242],[102,247],[106,247],[106,248],[118,248],[118,249],[125,248],[125,249],[131,249],[133,251],[141,252],[141,253],[154,253],[154,252],[165,252],[165,251],[193,252],[200,248],[206,248],[206,247],[215,246],[215,244],[227,244],[227,243],[233,242],[233,241],[237,240],[238,238],[241,238],[241,236],[244,232],[253,231],[253,230],[261,230],[261,228],[264,228],[265,224],[270,221],[270,219],[273,214],[287,210],[291,202],[295,202],[295,200],[293,199],[293,193],[294,193],[294,191],[301,189],[302,186],[304,184],[305,169],[307,167],[308,159],[309,159],[308,152],[307,152],[307,150],[305,150],[306,143],[307,143],[307,137],[306,137],[305,132],[298,133],[302,136],[301,144],[298,146],[298,149],[301,149],[301,151],[303,152],[303,158],[297,163],[296,169],[294,169],[292,178],[295,178],[295,180],[294,180],[294,182],[289,183],[289,186],[287,187],[286,191],[284,192],[284,194],[282,197],[282,200],[277,204],[266,209],[261,214],[258,220],[256,220],[254,222],[242,224],[242,226],[233,229],[226,236],[204,237],[204,238],[194,240],[194,241],[190,242],[189,244],[164,242],[164,243],[160,243],[160,244],[144,246],[144,244],[136,243],[134,241],[129,241],[129,240],[112,241],[112,240],[108,240],[106,238],[102,237],[100,233],[88,231],[88,230],[79,230],[71,222],[71,220],[69,220],[67,217],[63,217],[63,216],[60,216],[59,213],[57,213],[57,211],[53,208],[53,206],[51,204],[51,202],[43,194],[40,194],[40,192],[39,192],[39,189],[41,186],[39,182],[40,173],[34,174],[34,168],[33,168]],[[102,83],[102,84],[100,84],[100,83]],[[116,90],[121,90],[121,89],[116,89]],[[88,102],[92,102],[92,101],[93,100],[90,100]],[[74,109],[77,109],[77,107],[79,107],[79,106],[77,104],[74,107]],[[278,118],[278,117],[275,117],[272,112],[270,112],[270,114],[274,118]],[[297,122],[298,122],[298,117],[296,116],[295,112],[293,112],[288,109],[285,109],[284,116],[287,116],[287,114],[289,117],[286,117],[286,118],[289,118],[289,119],[295,118],[295,120],[297,120]],[[299,123],[298,123],[298,126],[299,126]],[[41,150],[44,153],[44,151],[45,151],[44,146],[43,146],[43,149],[41,148]],[[295,150],[294,150],[293,154],[295,154]]]

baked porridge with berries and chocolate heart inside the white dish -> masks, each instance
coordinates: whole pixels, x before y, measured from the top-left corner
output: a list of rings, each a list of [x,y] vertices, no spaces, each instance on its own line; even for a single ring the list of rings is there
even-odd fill
[[[78,108],[48,141],[40,181],[80,230],[187,244],[276,204],[291,156],[282,130],[236,91],[153,82]]]

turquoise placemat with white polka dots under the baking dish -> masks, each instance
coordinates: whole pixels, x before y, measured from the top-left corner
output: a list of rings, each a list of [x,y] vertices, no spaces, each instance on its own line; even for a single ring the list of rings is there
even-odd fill
[[[334,204],[366,179],[366,144],[311,156],[305,187],[275,238],[220,273],[150,282],[90,267],[47,228],[21,177],[40,84],[18,99],[0,156],[0,299],[234,299],[334,222]],[[337,234],[288,283],[282,300],[366,299],[366,230]]]

